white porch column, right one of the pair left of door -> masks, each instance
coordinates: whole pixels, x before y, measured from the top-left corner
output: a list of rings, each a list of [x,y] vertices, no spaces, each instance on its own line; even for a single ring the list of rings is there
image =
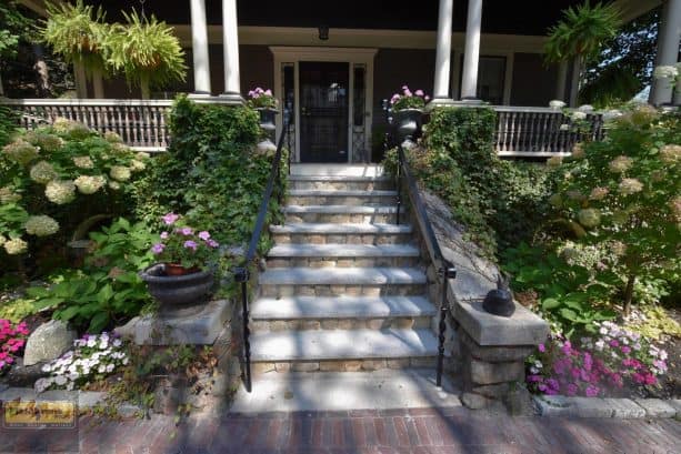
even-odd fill
[[[222,39],[224,48],[224,93],[228,101],[243,102],[239,80],[239,31],[237,0],[222,0]]]

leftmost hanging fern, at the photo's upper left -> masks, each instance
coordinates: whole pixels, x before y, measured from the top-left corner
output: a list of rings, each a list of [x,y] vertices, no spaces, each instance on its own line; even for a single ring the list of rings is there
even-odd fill
[[[104,37],[109,26],[104,23],[101,7],[94,9],[78,0],[71,3],[47,3],[48,19],[39,32],[43,42],[68,62],[83,64],[90,74],[104,69]]]

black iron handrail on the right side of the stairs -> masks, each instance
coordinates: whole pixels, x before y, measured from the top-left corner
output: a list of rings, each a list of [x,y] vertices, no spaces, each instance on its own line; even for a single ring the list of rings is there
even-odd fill
[[[447,285],[450,279],[457,278],[457,269],[454,264],[447,260],[442,254],[442,250],[440,249],[440,244],[438,243],[438,239],[435,238],[435,232],[430,223],[430,219],[428,218],[428,212],[425,211],[425,204],[421,199],[421,194],[419,193],[419,188],[417,182],[411,173],[411,169],[409,168],[409,161],[404,157],[404,149],[402,144],[398,144],[398,172],[397,172],[397,183],[398,183],[398,220],[400,215],[400,205],[401,205],[401,179],[402,175],[407,182],[407,193],[409,195],[409,200],[411,201],[411,206],[413,208],[413,216],[415,218],[421,233],[423,235],[423,240],[425,242],[425,246],[428,248],[428,252],[433,261],[433,265],[438,270],[438,274],[442,279],[442,300],[440,302],[440,322],[438,324],[438,370],[435,383],[438,386],[442,386],[442,369],[444,363],[444,332],[447,330],[447,314],[449,312],[449,304],[447,303]]]

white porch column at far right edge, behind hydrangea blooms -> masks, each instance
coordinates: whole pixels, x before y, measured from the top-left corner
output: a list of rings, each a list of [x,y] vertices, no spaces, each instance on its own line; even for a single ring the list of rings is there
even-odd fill
[[[660,32],[658,34],[657,65],[674,65],[679,61],[679,39],[681,38],[681,0],[667,0],[662,9]],[[679,87],[677,85],[677,90]],[[674,89],[669,79],[653,81],[650,101],[663,104],[672,101]],[[677,95],[677,98],[679,98]]]

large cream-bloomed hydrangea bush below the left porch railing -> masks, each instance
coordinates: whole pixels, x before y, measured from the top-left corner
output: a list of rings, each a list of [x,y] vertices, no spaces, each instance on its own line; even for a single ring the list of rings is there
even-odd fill
[[[20,134],[0,152],[2,250],[22,254],[42,236],[66,240],[91,215],[122,214],[148,159],[113,132],[101,135],[64,119]]]

